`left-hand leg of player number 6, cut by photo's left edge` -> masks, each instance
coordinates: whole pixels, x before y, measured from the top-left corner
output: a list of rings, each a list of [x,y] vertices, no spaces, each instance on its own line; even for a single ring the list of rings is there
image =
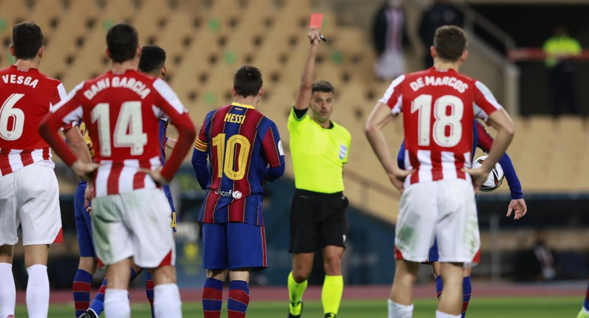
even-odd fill
[[[12,276],[12,245],[2,245],[0,246],[0,317],[14,316],[15,306],[16,287],[14,276]]]

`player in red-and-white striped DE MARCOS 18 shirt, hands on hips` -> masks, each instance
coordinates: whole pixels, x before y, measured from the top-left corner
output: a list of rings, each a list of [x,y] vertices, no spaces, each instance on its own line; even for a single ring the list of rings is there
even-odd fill
[[[444,280],[436,318],[461,316],[463,267],[479,259],[473,185],[478,189],[514,135],[511,120],[491,91],[458,72],[468,56],[465,32],[458,27],[438,28],[430,50],[434,67],[396,78],[366,122],[373,150],[391,183],[402,192],[389,318],[412,316],[413,284],[434,238]],[[395,164],[383,134],[383,127],[401,111],[408,170]],[[475,117],[498,132],[482,167],[470,169]]]

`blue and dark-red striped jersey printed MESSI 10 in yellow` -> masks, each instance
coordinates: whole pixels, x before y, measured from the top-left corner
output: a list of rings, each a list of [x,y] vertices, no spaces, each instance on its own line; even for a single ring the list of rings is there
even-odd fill
[[[263,226],[263,184],[274,179],[267,171],[284,167],[276,124],[254,107],[234,102],[206,115],[194,147],[207,154],[210,166],[198,221]]]

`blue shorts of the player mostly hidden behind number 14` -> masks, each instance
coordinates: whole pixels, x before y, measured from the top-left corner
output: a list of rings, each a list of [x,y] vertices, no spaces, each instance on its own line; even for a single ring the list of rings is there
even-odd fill
[[[90,213],[84,208],[84,192],[86,191],[85,181],[78,184],[74,195],[74,218],[75,231],[78,236],[78,247],[81,257],[96,257],[92,245],[92,223]]]

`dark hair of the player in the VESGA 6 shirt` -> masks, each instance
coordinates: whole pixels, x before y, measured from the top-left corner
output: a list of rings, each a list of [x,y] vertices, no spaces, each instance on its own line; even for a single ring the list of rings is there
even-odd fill
[[[37,57],[43,41],[43,31],[35,22],[21,22],[12,28],[12,45],[18,59]]]

